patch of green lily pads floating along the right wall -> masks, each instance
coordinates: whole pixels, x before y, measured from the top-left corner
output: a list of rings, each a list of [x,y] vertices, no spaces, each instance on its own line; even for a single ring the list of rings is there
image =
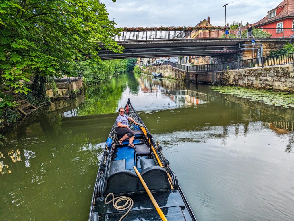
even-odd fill
[[[221,94],[246,98],[250,101],[258,101],[283,108],[294,107],[294,94],[287,92],[275,92],[273,90],[261,90],[233,86],[212,86],[210,89],[218,91]]]

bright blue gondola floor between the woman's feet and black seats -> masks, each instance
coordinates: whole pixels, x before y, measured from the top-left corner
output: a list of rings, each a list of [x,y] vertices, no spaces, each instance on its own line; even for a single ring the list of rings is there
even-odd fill
[[[126,159],[126,169],[135,172],[135,170],[133,169],[133,166],[135,166],[135,161],[134,161],[134,151],[135,150],[134,150],[134,148],[129,147],[127,145],[123,145],[123,146],[117,146],[117,150],[118,150],[116,153],[117,157],[115,158],[115,160]],[[146,156],[142,156],[138,160],[137,169],[139,172],[141,171],[141,165],[140,165],[141,158],[146,158]]]

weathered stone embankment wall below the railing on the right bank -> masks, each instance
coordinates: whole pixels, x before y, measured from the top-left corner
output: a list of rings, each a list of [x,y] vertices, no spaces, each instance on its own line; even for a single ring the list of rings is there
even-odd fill
[[[235,85],[260,89],[288,91],[294,93],[293,65],[279,65],[264,68],[246,68],[217,72],[187,72],[170,65],[151,66],[146,69],[162,73],[163,77],[192,82]]]

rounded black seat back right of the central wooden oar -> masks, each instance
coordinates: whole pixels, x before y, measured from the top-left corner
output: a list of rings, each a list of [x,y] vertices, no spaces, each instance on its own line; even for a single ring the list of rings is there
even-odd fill
[[[140,172],[150,190],[171,189],[167,172],[160,166],[150,166]]]

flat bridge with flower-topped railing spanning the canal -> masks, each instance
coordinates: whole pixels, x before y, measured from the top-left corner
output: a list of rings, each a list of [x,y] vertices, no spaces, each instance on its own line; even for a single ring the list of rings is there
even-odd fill
[[[122,31],[113,36],[114,40],[125,49],[123,53],[101,50],[101,59],[122,59],[142,57],[224,55],[242,51],[239,45],[255,39],[258,43],[280,43],[290,41],[294,31],[292,28],[230,28],[226,38],[225,29],[195,28],[181,30],[136,30]],[[253,37],[254,36],[254,37]]]

